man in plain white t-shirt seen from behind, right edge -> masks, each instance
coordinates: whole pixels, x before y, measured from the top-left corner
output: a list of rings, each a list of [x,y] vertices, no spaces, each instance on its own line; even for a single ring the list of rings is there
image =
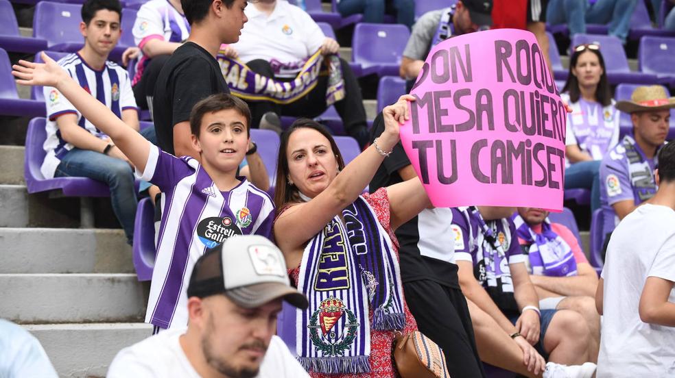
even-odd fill
[[[614,230],[595,294],[603,314],[597,377],[675,376],[675,143],[659,189]]]

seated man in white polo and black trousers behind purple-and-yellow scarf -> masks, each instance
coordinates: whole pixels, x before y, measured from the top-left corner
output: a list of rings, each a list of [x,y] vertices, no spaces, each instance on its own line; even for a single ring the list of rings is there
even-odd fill
[[[246,63],[254,73],[292,81],[307,60],[321,50],[322,55],[336,54],[340,45],[324,35],[311,16],[284,0],[256,0],[246,7],[248,23],[241,29],[239,41],[228,46],[225,53]],[[344,98],[335,101],[344,131],[364,148],[368,142],[368,125],[361,88],[351,67],[340,59],[344,81]],[[268,121],[268,113],[277,116],[316,117],[328,108],[326,94],[329,77],[320,76],[316,86],[296,101],[279,105],[272,101],[248,101],[253,127]]]

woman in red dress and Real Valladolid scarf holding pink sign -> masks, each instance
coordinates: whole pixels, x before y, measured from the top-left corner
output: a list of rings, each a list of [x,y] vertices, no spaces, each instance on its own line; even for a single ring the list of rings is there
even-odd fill
[[[393,230],[429,198],[418,178],[362,195],[399,141],[413,100],[405,95],[384,108],[386,131],[347,166],[315,121],[300,119],[282,134],[274,236],[309,298],[296,315],[296,350],[312,377],[396,377],[394,334],[417,329]]]

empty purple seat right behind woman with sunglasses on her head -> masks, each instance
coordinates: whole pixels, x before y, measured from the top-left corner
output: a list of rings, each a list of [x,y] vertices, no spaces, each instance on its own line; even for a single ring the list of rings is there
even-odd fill
[[[656,82],[656,75],[630,71],[626,51],[624,51],[624,46],[621,45],[619,38],[615,36],[576,34],[572,37],[570,46],[574,47],[584,43],[597,43],[600,45],[600,53],[602,53],[602,58],[604,58],[607,68],[607,78],[612,84],[652,84]]]

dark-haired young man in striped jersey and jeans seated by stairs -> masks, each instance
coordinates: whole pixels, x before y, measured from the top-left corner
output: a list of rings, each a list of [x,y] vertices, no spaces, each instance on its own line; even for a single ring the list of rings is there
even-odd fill
[[[82,5],[84,47],[58,63],[93,97],[132,129],[139,129],[136,101],[126,70],[108,61],[121,36],[117,0],[88,0]],[[45,160],[47,178],[89,177],[110,186],[112,210],[129,244],[134,235],[137,199],[129,160],[110,138],[88,121],[56,88],[43,88],[47,105]]]

